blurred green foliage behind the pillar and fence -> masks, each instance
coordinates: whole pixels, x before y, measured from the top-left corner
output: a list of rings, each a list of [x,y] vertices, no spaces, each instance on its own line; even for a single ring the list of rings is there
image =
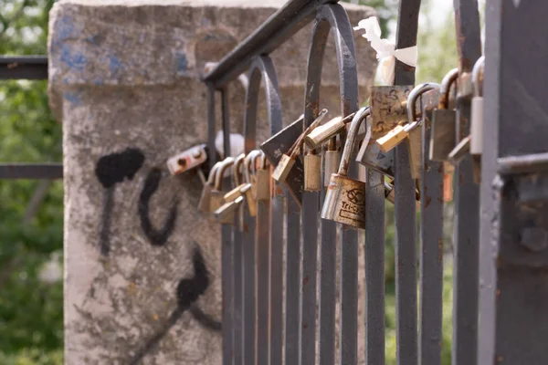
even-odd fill
[[[397,1],[372,5],[388,34]],[[53,0],[0,2],[0,55],[47,53],[47,14]],[[434,1],[423,1],[417,82],[439,81],[457,66],[452,14],[432,26]],[[393,23],[392,23],[393,24]],[[359,46],[357,46],[359,47]],[[61,126],[47,105],[46,81],[0,81],[0,161],[61,161]],[[39,209],[26,219],[27,204],[42,182],[0,180],[0,365],[62,364],[62,283],[39,280],[39,269],[62,254],[63,187],[52,183]],[[44,184],[44,183],[42,183]],[[394,212],[386,212],[386,356],[395,364]],[[58,255],[62,257],[62,255]],[[60,258],[59,258],[60,259]],[[451,267],[444,288],[444,364],[450,363]]]

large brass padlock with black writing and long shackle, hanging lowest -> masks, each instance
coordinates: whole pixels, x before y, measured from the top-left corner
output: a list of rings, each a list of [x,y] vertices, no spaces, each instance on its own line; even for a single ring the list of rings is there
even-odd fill
[[[321,218],[362,229],[365,228],[365,183],[349,178],[348,169],[356,135],[368,112],[367,108],[362,108],[353,117],[339,171],[332,174],[321,207]]]

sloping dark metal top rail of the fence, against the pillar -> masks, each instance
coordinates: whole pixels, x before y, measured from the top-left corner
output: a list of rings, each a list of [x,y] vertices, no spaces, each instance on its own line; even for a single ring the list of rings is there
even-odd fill
[[[338,0],[292,0],[269,17],[255,32],[221,59],[216,68],[208,72],[203,81],[215,89],[244,72],[254,57],[269,55],[274,49],[309,24],[316,16],[318,6],[337,3]]]

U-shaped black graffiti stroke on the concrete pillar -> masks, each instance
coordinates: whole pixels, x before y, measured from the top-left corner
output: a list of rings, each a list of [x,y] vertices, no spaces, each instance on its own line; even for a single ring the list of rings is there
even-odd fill
[[[152,245],[164,245],[167,242],[167,239],[174,231],[175,220],[177,219],[177,204],[179,203],[177,199],[174,199],[162,228],[155,229],[149,218],[149,203],[153,193],[158,190],[161,179],[162,171],[160,169],[154,168],[151,170],[144,181],[141,196],[139,197],[139,218],[141,218],[142,231],[149,238]]]

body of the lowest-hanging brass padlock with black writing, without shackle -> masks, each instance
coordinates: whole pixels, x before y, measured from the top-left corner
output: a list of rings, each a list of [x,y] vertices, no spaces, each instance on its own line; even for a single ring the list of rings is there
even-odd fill
[[[321,218],[364,229],[365,183],[333,173],[321,207]]]

